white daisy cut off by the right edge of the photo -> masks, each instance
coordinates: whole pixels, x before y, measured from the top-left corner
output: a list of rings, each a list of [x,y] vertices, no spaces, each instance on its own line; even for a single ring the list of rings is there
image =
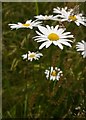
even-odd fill
[[[77,51],[82,52],[81,54],[83,55],[83,58],[86,57],[86,42],[82,40],[82,42],[78,42],[76,45]]]

